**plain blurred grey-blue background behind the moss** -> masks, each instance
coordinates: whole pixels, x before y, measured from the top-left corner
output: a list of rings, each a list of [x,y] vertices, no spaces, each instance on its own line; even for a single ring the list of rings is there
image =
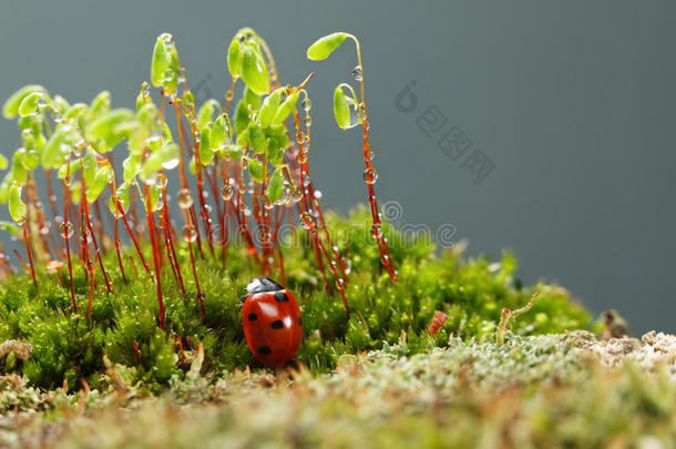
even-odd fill
[[[339,131],[330,108],[354,50],[316,63],[305,49],[352,32],[363,49],[377,191],[400,202],[402,223],[452,223],[472,255],[514,249],[528,283],[555,279],[595,312],[615,307],[635,334],[676,330],[675,3],[398,3],[3,1],[0,98],[39,82],[72,102],[107,89],[115,106],[132,106],[154,38],[168,31],[190,84],[204,79],[221,99],[225,45],[250,25],[284,79],[316,72],[313,177],[326,205],[347,211],[366,200],[360,135]],[[404,114],[395,98],[411,80],[419,105]],[[482,183],[418,129],[434,104],[494,162]],[[0,122],[0,145],[4,154],[19,146],[13,122]]]

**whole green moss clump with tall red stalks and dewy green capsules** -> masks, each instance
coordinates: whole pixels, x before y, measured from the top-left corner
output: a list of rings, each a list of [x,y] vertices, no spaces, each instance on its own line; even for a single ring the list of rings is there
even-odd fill
[[[253,357],[237,298],[260,276],[298,298],[305,338],[297,358],[314,370],[402,333],[414,351],[444,346],[450,335],[493,335],[500,309],[536,289],[542,298],[514,331],[587,326],[588,314],[562,288],[522,288],[511,255],[499,268],[485,258],[463,262],[458,251],[439,255],[429,235],[407,237],[382,221],[359,41],[332,33],[307,57],[324,60],[346,41],[356,44],[358,93],[340,83],[334,114],[341,129],[361,125],[369,205],[349,220],[322,211],[310,178],[313,73],[283,84],[252,29],[224,49],[232,84],[223,103],[195,104],[167,33],[155,41],[134,110],[112,109],[107,91],[89,104],[41,85],[11,95],[2,113],[18,116],[22,146],[11,161],[0,159],[9,169],[0,202],[13,218],[2,227],[24,242],[32,283],[13,275],[3,254],[0,337],[28,341],[33,354],[6,369],[39,385],[95,385],[105,355],[139,380],[164,382],[187,370],[185,353],[198,345],[205,369],[246,366]],[[174,170],[175,191],[167,183]],[[37,190],[42,174],[49,211]],[[181,217],[172,217],[172,201]],[[355,234],[357,225],[367,232]],[[437,312],[443,315],[432,320]],[[499,330],[503,340],[509,326]]]

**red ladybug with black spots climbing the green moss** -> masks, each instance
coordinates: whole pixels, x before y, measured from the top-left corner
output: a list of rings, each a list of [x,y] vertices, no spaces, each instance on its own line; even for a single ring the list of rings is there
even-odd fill
[[[303,319],[298,303],[289,290],[269,277],[257,277],[240,298],[246,343],[258,361],[277,368],[298,351]]]

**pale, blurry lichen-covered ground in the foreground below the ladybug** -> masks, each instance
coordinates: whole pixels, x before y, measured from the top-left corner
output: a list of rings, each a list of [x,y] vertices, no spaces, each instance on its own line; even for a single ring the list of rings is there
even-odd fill
[[[160,396],[109,370],[102,390],[43,392],[0,378],[0,441],[96,448],[673,448],[676,337],[590,333],[406,338],[330,375],[235,370],[173,378]],[[618,351],[619,349],[619,351]],[[114,380],[116,379],[116,380]],[[125,380],[127,379],[127,380]]]

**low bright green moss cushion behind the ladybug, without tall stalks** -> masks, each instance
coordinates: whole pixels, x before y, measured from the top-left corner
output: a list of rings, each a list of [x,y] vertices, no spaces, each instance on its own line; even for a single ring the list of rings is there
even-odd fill
[[[324,287],[311,249],[296,241],[305,238],[303,229],[289,236],[284,249],[287,287],[300,303],[305,324],[297,358],[314,373],[330,370],[344,354],[396,343],[402,333],[413,354],[447,346],[451,335],[463,340],[492,335],[500,310],[525,304],[535,290],[542,290],[541,296],[533,310],[516,322],[514,333],[557,333],[590,326],[588,313],[563,288],[544,284],[521,287],[514,278],[516,262],[509,253],[496,263],[486,257],[463,261],[457,251],[439,254],[428,235],[406,236],[386,226],[391,256],[399,267],[399,282],[392,283],[368,233],[366,211],[358,210],[349,218],[329,214],[328,221],[337,245],[348,251],[351,261],[347,296],[355,313],[349,320],[339,297]],[[109,255],[104,262],[114,266],[113,257]],[[184,269],[187,257],[187,248],[180,247]],[[205,373],[256,366],[244,341],[238,298],[258,274],[248,267],[245,248],[228,249],[225,272],[216,261],[205,252],[197,262],[206,325],[190,278],[184,296],[171,272],[163,272],[166,330],[157,326],[154,284],[143,272],[126,285],[120,274],[113,274],[114,290],[110,294],[98,276],[90,319],[71,312],[68,283],[61,283],[58,274],[38,271],[39,295],[28,275],[6,280],[0,286],[0,339],[28,341],[33,354],[24,363],[8,359],[4,370],[22,373],[42,387],[61,386],[64,379],[71,387],[80,379],[96,387],[106,355],[129,367],[134,380],[160,388],[172,377],[184,376],[198,343],[205,350]],[[78,300],[85,304],[89,284],[80,267],[75,267],[74,279]],[[436,310],[450,318],[430,337],[426,328]]]

